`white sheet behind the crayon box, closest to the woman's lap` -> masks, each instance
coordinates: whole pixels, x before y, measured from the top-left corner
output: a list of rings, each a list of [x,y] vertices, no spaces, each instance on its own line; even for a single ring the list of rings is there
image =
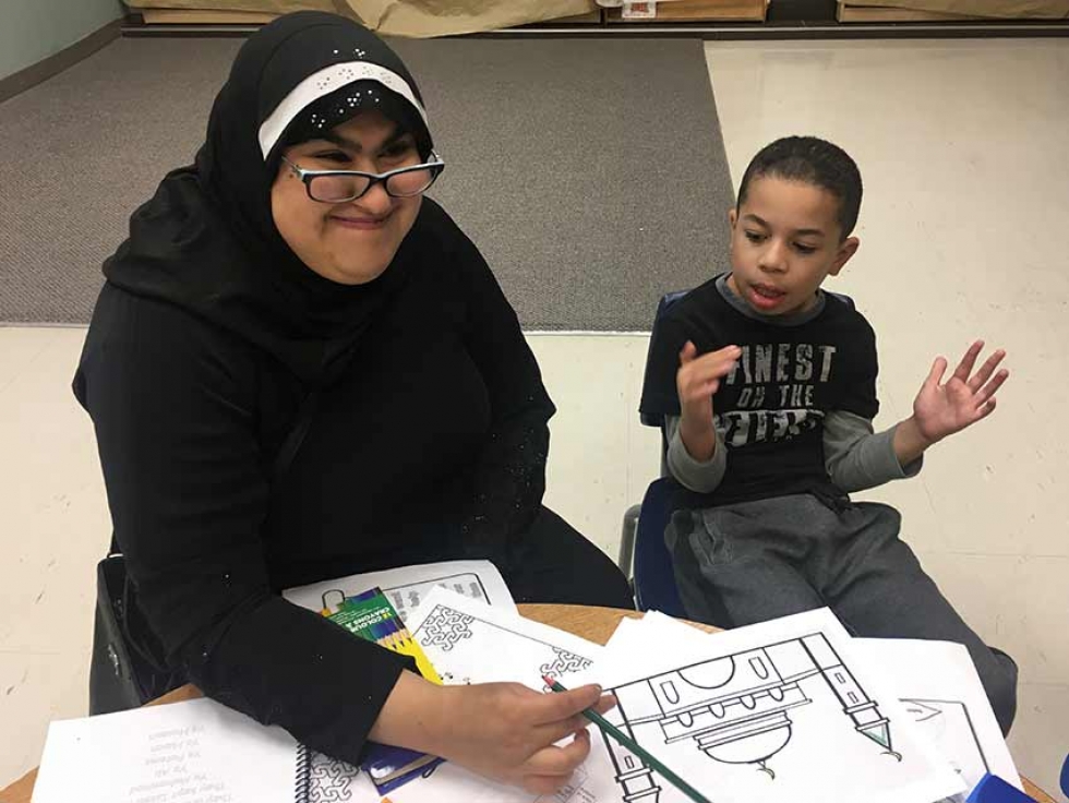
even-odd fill
[[[445,561],[353,574],[309,586],[287,588],[283,591],[283,597],[312,611],[333,610],[344,598],[362,594],[375,586],[382,588],[409,628],[411,613],[436,586],[451,588],[457,594],[512,613],[516,612],[516,603],[508,592],[508,586],[490,561]]]

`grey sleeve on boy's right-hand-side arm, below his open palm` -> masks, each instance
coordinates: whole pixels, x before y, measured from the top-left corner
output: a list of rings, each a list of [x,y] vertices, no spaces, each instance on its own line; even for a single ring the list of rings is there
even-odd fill
[[[900,462],[894,448],[900,427],[874,433],[872,419],[845,410],[830,411],[824,422],[824,455],[831,481],[853,493],[916,477],[924,458],[905,465]]]

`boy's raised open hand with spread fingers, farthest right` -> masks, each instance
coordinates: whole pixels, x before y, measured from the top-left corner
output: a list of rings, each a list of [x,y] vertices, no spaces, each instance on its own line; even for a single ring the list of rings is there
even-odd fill
[[[995,392],[1002,386],[1010,372],[1002,369],[996,373],[995,369],[1006,357],[1006,352],[998,349],[973,373],[983,348],[983,340],[970,346],[953,375],[945,383],[942,376],[947,371],[947,360],[937,357],[932,364],[932,371],[913,402],[916,428],[929,444],[960,432],[994,412]]]

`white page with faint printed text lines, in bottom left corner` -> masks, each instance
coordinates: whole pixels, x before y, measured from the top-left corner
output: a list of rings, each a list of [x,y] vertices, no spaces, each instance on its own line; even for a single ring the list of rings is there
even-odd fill
[[[293,803],[298,750],[209,699],[56,721],[33,803]]]

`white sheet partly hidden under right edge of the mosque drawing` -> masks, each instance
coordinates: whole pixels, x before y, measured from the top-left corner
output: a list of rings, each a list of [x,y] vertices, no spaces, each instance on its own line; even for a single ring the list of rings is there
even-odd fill
[[[985,772],[994,772],[1023,791],[964,646],[905,638],[855,638],[854,643],[870,663],[886,669],[906,712],[970,790]]]

